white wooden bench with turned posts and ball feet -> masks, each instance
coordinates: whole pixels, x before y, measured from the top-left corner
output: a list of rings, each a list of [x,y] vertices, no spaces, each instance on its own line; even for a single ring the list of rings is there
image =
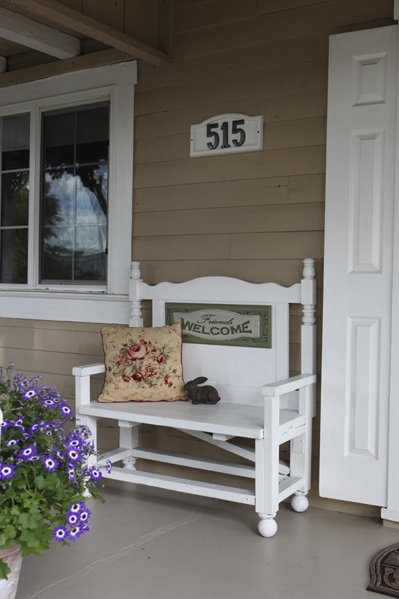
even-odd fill
[[[186,283],[143,283],[138,262],[132,263],[130,327],[142,327],[141,300],[152,300],[152,326],[166,322],[165,304],[255,304],[271,306],[272,347],[231,347],[184,343],[184,379],[207,376],[222,398],[214,406],[194,406],[188,401],[157,403],[98,403],[90,401],[90,376],[105,372],[103,364],[73,368],[76,376],[76,415],[96,439],[100,418],[118,421],[119,447],[99,455],[98,467],[107,460],[122,462],[104,476],[130,483],[161,487],[254,505],[258,530],[272,537],[278,504],[292,496],[292,507],[308,507],[310,489],[312,417],[315,415],[316,327],[314,261],[303,261],[303,279],[291,287],[273,283],[251,284],[229,277],[204,277]],[[289,377],[289,309],[302,304],[301,374]],[[230,308],[230,306],[229,306]],[[278,382],[275,382],[278,381]],[[184,431],[244,458],[247,463],[221,462],[145,449],[139,446],[140,424],[168,426]],[[254,440],[251,442],[242,440]],[[290,441],[290,462],[279,459],[279,447]],[[172,465],[254,478],[254,492],[136,470],[134,463],[155,460]],[[96,459],[96,458],[95,458]]]

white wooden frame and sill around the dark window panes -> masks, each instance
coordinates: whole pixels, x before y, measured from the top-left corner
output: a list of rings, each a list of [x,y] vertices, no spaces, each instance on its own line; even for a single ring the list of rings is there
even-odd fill
[[[2,318],[129,322],[136,79],[136,61],[130,61],[0,89],[0,116],[30,113],[28,282],[0,284]],[[42,112],[99,101],[110,103],[107,285],[40,284]]]

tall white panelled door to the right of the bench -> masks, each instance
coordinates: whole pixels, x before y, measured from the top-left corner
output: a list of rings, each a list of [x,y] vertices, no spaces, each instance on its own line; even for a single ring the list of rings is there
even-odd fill
[[[397,26],[330,38],[321,496],[387,505]]]

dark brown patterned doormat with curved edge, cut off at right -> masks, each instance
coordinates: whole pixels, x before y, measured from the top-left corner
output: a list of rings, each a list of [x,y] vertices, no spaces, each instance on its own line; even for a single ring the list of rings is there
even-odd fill
[[[367,590],[399,597],[399,543],[380,550],[371,559]]]

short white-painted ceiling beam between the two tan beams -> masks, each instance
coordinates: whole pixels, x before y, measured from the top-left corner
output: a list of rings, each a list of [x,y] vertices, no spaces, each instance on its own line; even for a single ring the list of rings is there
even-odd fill
[[[0,8],[0,37],[55,58],[73,58],[80,54],[80,40],[77,37],[6,8]]]

